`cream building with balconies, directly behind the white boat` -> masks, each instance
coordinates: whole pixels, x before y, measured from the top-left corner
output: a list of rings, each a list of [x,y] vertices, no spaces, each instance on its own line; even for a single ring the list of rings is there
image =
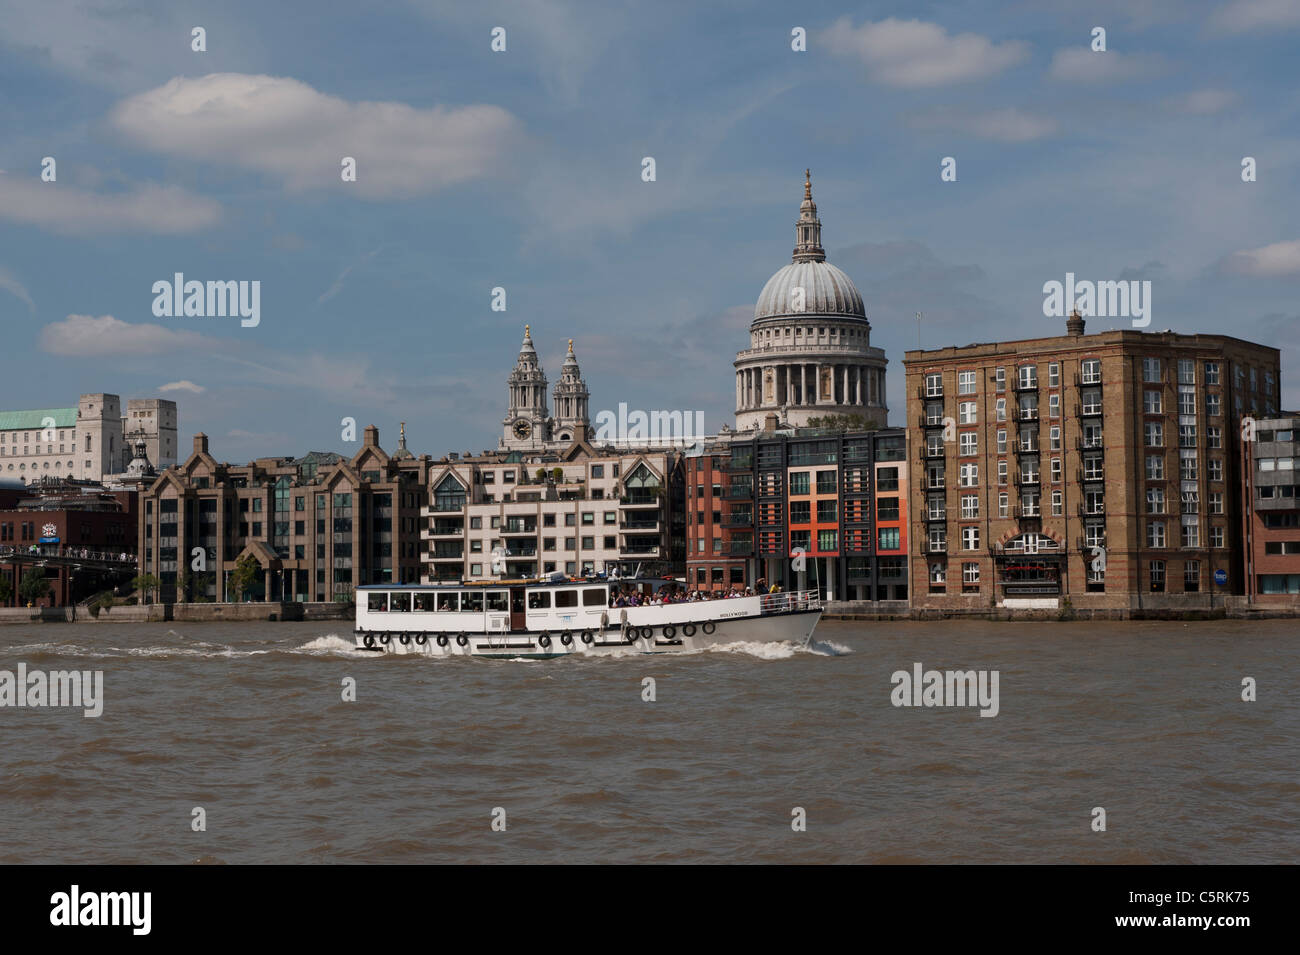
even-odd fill
[[[681,452],[447,455],[429,468],[422,582],[680,572]]]

